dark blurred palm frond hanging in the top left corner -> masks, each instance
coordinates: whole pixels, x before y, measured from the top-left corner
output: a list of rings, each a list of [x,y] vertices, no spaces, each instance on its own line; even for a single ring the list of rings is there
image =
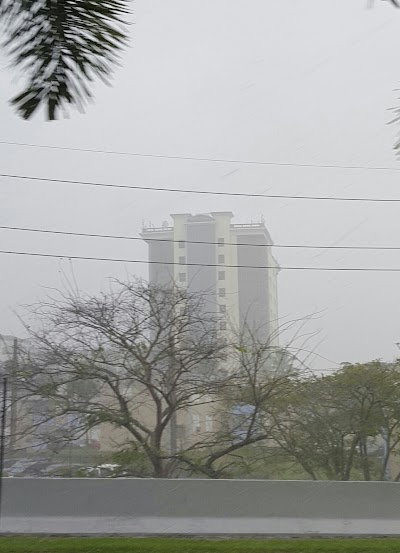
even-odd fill
[[[4,46],[27,76],[12,99],[24,119],[40,105],[56,119],[68,105],[82,108],[94,77],[106,81],[126,43],[124,0],[0,0]]]

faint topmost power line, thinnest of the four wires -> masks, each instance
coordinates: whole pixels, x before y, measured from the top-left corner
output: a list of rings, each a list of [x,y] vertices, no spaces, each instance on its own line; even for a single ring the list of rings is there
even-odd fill
[[[124,152],[118,150],[102,150],[96,148],[76,148],[72,146],[51,146],[49,144],[32,144],[28,142],[8,142],[0,140],[0,144],[6,146],[22,146],[26,148],[43,148],[48,150],[63,150],[68,152],[86,152],[91,154],[104,154],[115,156],[130,156],[144,157],[155,159],[172,159],[183,161],[199,161],[207,163],[233,163],[239,165],[270,165],[276,167],[312,167],[317,169],[356,169],[364,171],[400,171],[400,167],[385,167],[385,166],[369,166],[369,165],[341,165],[341,164],[319,164],[319,163],[296,163],[296,162],[280,162],[280,161],[264,161],[256,159],[238,159],[238,158],[214,158],[214,157],[197,157],[197,156],[180,156],[169,154],[151,154],[145,152]]]

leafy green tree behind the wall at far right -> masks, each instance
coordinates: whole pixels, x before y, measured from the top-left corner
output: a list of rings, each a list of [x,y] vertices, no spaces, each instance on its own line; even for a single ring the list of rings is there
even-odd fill
[[[274,439],[311,478],[383,479],[400,442],[400,367],[345,364],[330,376],[295,382],[274,417]],[[386,433],[388,447],[378,455]]]

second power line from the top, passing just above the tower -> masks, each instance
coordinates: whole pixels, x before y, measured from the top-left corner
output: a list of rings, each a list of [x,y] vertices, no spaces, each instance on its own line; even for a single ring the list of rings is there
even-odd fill
[[[155,186],[139,186],[131,184],[111,184],[95,181],[80,181],[69,179],[52,179],[49,177],[33,177],[30,175],[12,175],[0,173],[0,177],[20,180],[33,180],[40,182],[57,182],[60,184],[78,184],[83,186],[96,186],[102,188],[121,188],[126,190],[150,190],[153,192],[173,192],[178,194],[201,194],[210,196],[234,196],[242,198],[269,198],[282,200],[319,200],[336,202],[370,202],[370,203],[399,203],[400,198],[346,198],[339,196],[292,196],[287,194],[250,194],[246,192],[219,192],[215,190],[193,190],[190,188],[161,188]]]

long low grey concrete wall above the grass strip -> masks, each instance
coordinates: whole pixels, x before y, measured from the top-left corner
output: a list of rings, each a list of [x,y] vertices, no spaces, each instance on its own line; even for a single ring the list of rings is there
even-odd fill
[[[5,479],[0,530],[95,534],[400,534],[400,484]]]

